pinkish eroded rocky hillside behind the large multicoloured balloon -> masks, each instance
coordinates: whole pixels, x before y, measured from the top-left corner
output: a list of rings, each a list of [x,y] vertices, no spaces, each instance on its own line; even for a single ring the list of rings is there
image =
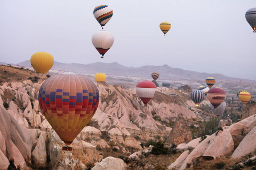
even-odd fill
[[[64,143],[39,108],[38,90],[46,75],[9,66],[2,68],[0,156],[5,161],[0,163],[0,169],[54,168],[68,155],[61,151]],[[187,119],[201,118],[199,109],[184,92],[158,88],[144,107],[135,88],[96,84],[100,105],[89,126],[73,142],[73,155],[69,155],[76,166],[99,162],[109,154],[129,155],[142,149],[142,142],[166,139],[172,130],[170,120],[175,121],[179,113]],[[209,102],[205,100],[204,104]]]

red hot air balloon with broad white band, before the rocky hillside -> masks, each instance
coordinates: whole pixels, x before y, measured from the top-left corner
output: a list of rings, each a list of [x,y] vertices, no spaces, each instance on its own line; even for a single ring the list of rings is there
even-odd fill
[[[156,86],[149,81],[139,82],[136,86],[136,92],[139,98],[143,101],[145,106],[155,95]]]

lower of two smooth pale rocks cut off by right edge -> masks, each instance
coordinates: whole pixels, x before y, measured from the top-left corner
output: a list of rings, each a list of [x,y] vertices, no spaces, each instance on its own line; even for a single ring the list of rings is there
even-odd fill
[[[250,152],[256,150],[256,126],[243,138],[236,150],[232,154],[232,158],[241,158]]]

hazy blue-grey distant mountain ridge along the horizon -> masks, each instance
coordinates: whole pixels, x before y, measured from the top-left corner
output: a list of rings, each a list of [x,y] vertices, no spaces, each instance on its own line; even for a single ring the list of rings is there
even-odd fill
[[[20,62],[17,65],[19,66],[31,66],[30,60]],[[61,63],[54,62],[52,69],[55,70],[64,70],[72,71],[75,73],[106,73],[108,75],[119,75],[119,76],[135,76],[135,77],[145,77],[151,78],[152,72],[158,72],[160,74],[159,79],[170,79],[170,80],[189,80],[189,79],[205,79],[208,76],[213,76],[215,79],[219,80],[228,80],[234,82],[246,82],[246,83],[256,83],[255,80],[233,78],[230,76],[225,76],[223,74],[209,74],[209,73],[200,73],[197,71],[183,70],[170,67],[168,65],[163,66],[141,66],[141,67],[126,67],[120,65],[117,62],[113,63],[104,63],[96,62],[89,64],[80,64],[80,63]]]

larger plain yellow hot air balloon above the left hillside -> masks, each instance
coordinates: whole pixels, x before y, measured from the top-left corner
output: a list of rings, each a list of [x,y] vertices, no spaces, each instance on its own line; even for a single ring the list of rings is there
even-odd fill
[[[46,74],[53,66],[54,59],[50,53],[37,52],[31,56],[30,63],[36,72]]]

